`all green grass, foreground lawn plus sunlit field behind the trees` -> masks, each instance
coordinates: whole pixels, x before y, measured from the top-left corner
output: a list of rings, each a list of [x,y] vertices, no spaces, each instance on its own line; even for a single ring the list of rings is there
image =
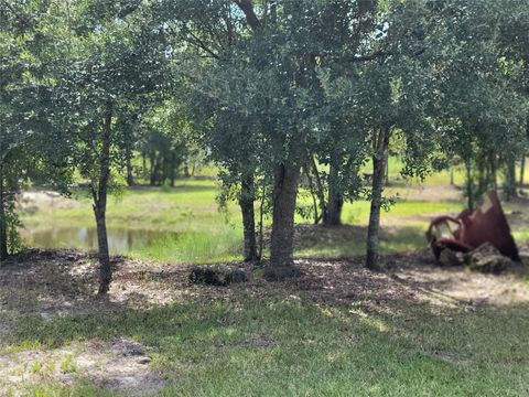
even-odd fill
[[[456,181],[461,176],[456,173]],[[433,175],[424,186],[442,185],[443,190],[447,178],[447,173]],[[424,247],[429,218],[462,208],[457,200],[429,201],[408,194],[415,187],[415,183],[398,181],[388,190],[390,195],[403,194],[390,212],[382,214],[384,253]],[[110,201],[108,226],[176,233],[130,251],[133,258],[173,264],[238,259],[238,208],[230,204],[227,213],[218,212],[216,192],[210,180],[180,182],[173,190],[132,189]],[[522,222],[514,225],[515,237],[529,244],[523,204],[509,204],[506,210],[521,212],[518,217]],[[347,204],[343,214],[346,226],[320,228],[316,236],[301,235],[295,255],[335,258],[364,253],[368,214],[367,202]],[[89,200],[82,193],[67,207],[44,206],[26,213],[23,221],[28,228],[35,229],[52,223],[65,227],[90,226],[94,222]],[[302,219],[298,217],[296,222]],[[428,267],[424,273],[431,269]],[[212,294],[206,289],[205,296],[199,291],[168,305],[141,310],[127,305],[116,309],[110,299],[108,303],[115,309],[105,313],[67,313],[44,319],[39,312],[17,312],[14,331],[0,340],[0,361],[2,353],[56,352],[85,341],[131,339],[155,347],[149,368],[165,380],[160,396],[529,394],[527,299],[489,305],[452,299],[449,294],[452,287],[457,287],[457,278],[451,279],[453,285],[446,285],[444,279],[453,275],[451,269],[443,270],[434,287],[424,282],[406,297],[398,292],[397,279],[388,278],[382,285],[389,298],[380,300],[366,280],[356,279],[359,271],[349,269],[347,299],[332,296],[335,285],[320,279],[317,288],[272,285],[266,293],[255,286],[218,289]],[[457,275],[464,277],[463,272]],[[507,294],[510,290],[529,289],[527,282],[521,287],[509,282],[512,280],[507,277],[498,279],[497,288]],[[126,287],[129,288],[122,288]],[[458,287],[469,289],[465,283]],[[483,292],[483,288],[478,291]],[[409,298],[425,289],[431,289],[435,299]],[[313,299],[312,294],[322,291],[330,291],[331,296]],[[140,292],[139,289],[137,293]],[[1,285],[0,298],[6,298]],[[36,299],[45,300],[45,296]],[[51,371],[46,365],[32,364],[30,371],[44,376]],[[77,380],[69,385],[24,384],[24,391],[42,397],[119,395],[84,379],[72,356],[58,360],[55,367],[80,377],[76,376]],[[20,390],[11,391],[15,395]]]

